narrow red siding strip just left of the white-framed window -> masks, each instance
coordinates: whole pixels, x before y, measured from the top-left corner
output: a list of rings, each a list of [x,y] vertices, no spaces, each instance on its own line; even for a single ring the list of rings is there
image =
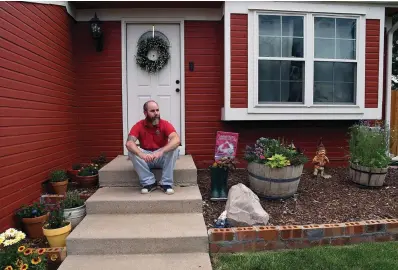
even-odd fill
[[[247,14],[231,14],[231,108],[247,108]]]

